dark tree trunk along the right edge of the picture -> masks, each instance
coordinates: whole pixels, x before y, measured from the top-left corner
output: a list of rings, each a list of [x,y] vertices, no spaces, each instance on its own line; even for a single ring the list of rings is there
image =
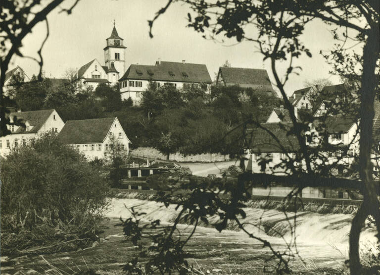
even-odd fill
[[[376,95],[377,77],[375,74],[376,62],[379,58],[379,27],[375,24],[368,32],[366,44],[363,48],[363,76],[360,95],[360,177],[365,185],[363,205],[352,220],[349,238],[349,257],[351,275],[362,272],[359,255],[359,237],[367,216],[373,215],[377,230],[380,230],[379,200],[376,185],[373,179],[373,165],[371,163],[372,132],[374,118],[374,100]]]

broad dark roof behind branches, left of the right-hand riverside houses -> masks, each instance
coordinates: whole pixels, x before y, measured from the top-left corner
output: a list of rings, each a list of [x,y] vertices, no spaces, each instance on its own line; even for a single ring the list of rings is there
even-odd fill
[[[253,153],[279,153],[284,152],[284,150],[286,152],[299,151],[300,146],[296,136],[287,134],[290,124],[261,123],[260,125],[266,130],[262,128],[248,130],[245,137],[245,148],[251,149]]]

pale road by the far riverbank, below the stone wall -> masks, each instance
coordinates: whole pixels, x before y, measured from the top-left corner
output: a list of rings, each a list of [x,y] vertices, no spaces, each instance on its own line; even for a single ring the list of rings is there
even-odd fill
[[[193,175],[207,176],[208,174],[216,174],[222,176],[222,171],[231,165],[239,165],[238,161],[218,162],[218,163],[181,163],[181,166],[188,166]]]

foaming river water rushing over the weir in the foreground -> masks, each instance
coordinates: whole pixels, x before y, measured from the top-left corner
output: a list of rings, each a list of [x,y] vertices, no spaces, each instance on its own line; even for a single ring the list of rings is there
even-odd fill
[[[87,270],[95,270],[99,274],[121,273],[121,267],[137,252],[136,247],[124,240],[122,227],[115,226],[120,217],[125,219],[131,216],[126,207],[145,212],[144,221],[159,219],[167,224],[180,211],[175,210],[175,205],[165,208],[153,201],[112,199],[112,205],[106,213],[109,220],[104,235],[101,235],[101,241],[94,247],[13,259],[11,265],[8,263],[7,266],[1,266],[1,274],[73,274]],[[289,220],[286,220],[285,214],[277,210],[247,208],[245,212],[247,216],[243,221],[251,224],[246,227],[249,232],[266,239],[276,250],[285,251],[289,245],[293,253],[298,251],[293,269],[316,270],[328,267],[339,270],[344,267],[344,261],[348,259],[348,234],[352,215],[299,212],[294,227],[294,213],[287,213]],[[210,224],[217,220],[217,217],[209,218]],[[179,228],[186,236],[192,226],[181,224]],[[360,239],[362,248],[369,249],[376,244],[374,232],[366,226]],[[263,248],[261,242],[239,231],[234,223],[230,223],[228,229],[221,233],[201,224],[185,250],[190,253],[189,262],[204,274],[207,271],[210,274],[220,274],[219,271],[223,271],[222,274],[261,274],[257,268],[262,268],[263,259],[270,255],[268,248]],[[301,258],[303,264],[300,264]],[[254,269],[256,272],[251,273],[250,270]]]

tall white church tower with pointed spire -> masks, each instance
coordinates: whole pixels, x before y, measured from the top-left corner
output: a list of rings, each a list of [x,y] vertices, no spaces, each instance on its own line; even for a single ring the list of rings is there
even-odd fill
[[[108,68],[108,72],[112,73],[113,78],[117,75],[115,73],[118,72],[118,77],[122,77],[124,75],[124,62],[125,62],[125,47],[123,45],[123,39],[117,34],[115,27],[115,20],[113,20],[113,29],[111,36],[106,39],[107,45],[104,50],[104,61],[105,65]],[[109,74],[109,73],[107,73]],[[108,78],[110,75],[108,76]],[[110,79],[108,79],[111,81]],[[113,82],[113,81],[111,81]]]

